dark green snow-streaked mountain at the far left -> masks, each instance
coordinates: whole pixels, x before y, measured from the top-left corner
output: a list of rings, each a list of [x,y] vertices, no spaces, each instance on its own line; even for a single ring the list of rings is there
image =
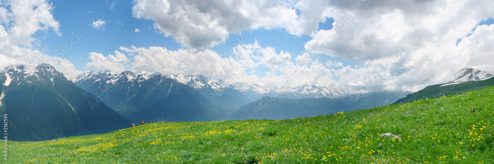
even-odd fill
[[[40,141],[104,133],[131,122],[67,80],[53,66],[10,66],[0,71],[0,113],[9,139]]]

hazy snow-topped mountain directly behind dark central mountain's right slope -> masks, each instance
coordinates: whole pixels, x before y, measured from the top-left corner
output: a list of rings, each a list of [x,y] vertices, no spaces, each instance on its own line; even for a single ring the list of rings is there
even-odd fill
[[[211,80],[203,75],[170,74],[167,78],[185,84],[209,99],[213,104],[227,112],[233,112],[250,101],[243,93],[226,84],[223,80]]]

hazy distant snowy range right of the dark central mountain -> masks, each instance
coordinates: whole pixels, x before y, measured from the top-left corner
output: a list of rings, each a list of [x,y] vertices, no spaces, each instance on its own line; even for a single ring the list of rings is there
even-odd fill
[[[223,80],[211,80],[203,75],[170,74],[166,77],[194,88],[211,102],[225,109],[237,110],[242,105],[269,96],[275,98],[334,98],[349,95],[338,89],[309,86],[301,87],[263,87],[257,84],[226,84]]]

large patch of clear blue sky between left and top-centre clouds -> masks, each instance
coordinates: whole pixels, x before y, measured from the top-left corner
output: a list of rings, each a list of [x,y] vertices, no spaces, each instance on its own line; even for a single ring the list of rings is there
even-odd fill
[[[115,1],[116,3],[107,3]],[[39,33],[41,45],[36,47],[48,55],[62,52],[64,58],[70,60],[79,70],[87,70],[90,52],[104,55],[113,54],[120,46],[163,46],[177,50],[180,45],[172,37],[165,37],[153,28],[153,21],[135,19],[131,15],[132,1],[130,0],[50,0],[56,8],[53,16],[60,22],[62,36],[54,33]],[[115,4],[109,8],[108,4]],[[105,30],[94,29],[93,21],[106,21]],[[135,33],[135,29],[139,29]],[[83,37],[72,49],[65,48],[66,44],[79,33]],[[67,51],[65,53],[60,47]],[[67,46],[70,48],[71,46]]]

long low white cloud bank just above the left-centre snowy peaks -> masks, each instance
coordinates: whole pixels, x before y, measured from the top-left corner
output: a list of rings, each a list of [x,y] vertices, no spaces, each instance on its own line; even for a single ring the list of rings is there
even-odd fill
[[[203,74],[213,79],[228,79],[242,75],[243,69],[231,58],[221,58],[211,50],[196,51],[179,49],[167,50],[165,47],[121,47],[129,53],[133,61],[131,70],[161,72],[164,74]]]

